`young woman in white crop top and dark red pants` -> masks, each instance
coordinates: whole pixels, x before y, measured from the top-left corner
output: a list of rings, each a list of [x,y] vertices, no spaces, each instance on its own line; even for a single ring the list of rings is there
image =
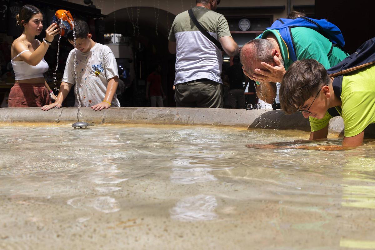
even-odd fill
[[[33,5],[24,5],[16,16],[17,24],[23,26],[23,33],[12,43],[12,66],[15,84],[10,89],[9,107],[41,107],[55,99],[43,73],[48,70],[44,55],[55,35],[60,31],[57,24],[46,29],[43,42],[35,39],[42,32],[43,15]]]

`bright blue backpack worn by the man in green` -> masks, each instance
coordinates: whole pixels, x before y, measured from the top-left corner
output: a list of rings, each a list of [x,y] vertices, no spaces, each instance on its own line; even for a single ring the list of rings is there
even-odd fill
[[[333,43],[333,46],[337,44],[344,47],[345,45],[341,30],[327,19],[318,20],[305,16],[300,16],[296,19],[279,18],[266,30],[279,30],[282,39],[287,43],[289,56],[292,61],[297,61],[296,48],[294,47],[293,36],[290,30],[294,27],[312,28],[327,37]]]

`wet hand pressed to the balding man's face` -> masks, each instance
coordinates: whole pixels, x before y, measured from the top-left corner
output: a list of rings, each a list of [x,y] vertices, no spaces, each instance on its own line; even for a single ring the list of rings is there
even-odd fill
[[[261,63],[267,70],[255,69],[254,75],[248,77],[254,81],[258,82],[281,82],[285,74],[285,68],[282,65],[280,59],[275,55],[273,56],[273,61],[275,61],[275,66],[265,63]],[[247,75],[247,74],[246,74]]]

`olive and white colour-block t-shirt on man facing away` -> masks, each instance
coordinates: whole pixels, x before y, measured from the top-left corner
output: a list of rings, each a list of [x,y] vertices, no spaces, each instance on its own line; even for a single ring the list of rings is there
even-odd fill
[[[231,36],[228,22],[222,14],[201,6],[192,10],[199,24],[214,39]],[[176,42],[174,84],[201,78],[223,83],[220,78],[223,64],[221,51],[198,30],[187,11],[175,17],[168,39]]]

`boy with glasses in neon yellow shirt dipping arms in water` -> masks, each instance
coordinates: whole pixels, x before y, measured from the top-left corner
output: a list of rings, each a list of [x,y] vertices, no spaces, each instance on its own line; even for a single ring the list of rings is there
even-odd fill
[[[310,140],[327,138],[327,112],[335,107],[344,120],[343,146],[363,143],[364,130],[375,122],[375,64],[343,75],[340,88],[316,60],[296,61],[285,73],[280,87],[280,103],[288,114],[300,111],[309,118]],[[338,83],[336,83],[338,84]],[[336,92],[335,92],[336,90]],[[330,149],[342,147],[332,145]]]

